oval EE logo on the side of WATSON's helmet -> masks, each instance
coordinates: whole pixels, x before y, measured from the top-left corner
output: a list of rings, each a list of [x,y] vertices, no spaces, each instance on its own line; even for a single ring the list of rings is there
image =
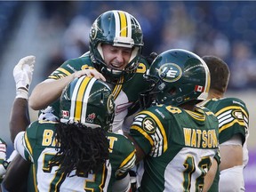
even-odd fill
[[[158,75],[166,82],[176,82],[182,76],[182,70],[177,64],[166,63],[158,69]]]

